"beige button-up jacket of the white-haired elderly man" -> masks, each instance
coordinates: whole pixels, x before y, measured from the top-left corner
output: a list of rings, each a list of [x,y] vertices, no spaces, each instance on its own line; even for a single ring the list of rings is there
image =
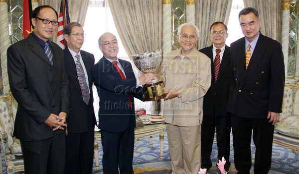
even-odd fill
[[[211,85],[211,60],[194,47],[181,61],[181,49],[167,54],[162,78],[165,91],[181,91],[181,98],[164,101],[166,123],[195,126],[202,122],[203,96]]]

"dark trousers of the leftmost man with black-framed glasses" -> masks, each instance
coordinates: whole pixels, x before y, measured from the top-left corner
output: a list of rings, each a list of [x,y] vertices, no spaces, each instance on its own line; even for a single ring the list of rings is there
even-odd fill
[[[63,174],[65,134],[39,141],[21,141],[25,174]]]

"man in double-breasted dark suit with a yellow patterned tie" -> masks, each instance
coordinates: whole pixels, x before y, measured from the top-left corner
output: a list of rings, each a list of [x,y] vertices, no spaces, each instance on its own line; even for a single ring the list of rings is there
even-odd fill
[[[280,43],[259,32],[261,20],[255,8],[242,9],[239,21],[245,37],[231,44],[227,106],[232,113],[235,165],[238,174],[249,174],[252,136],[256,146],[254,173],[268,174],[274,124],[282,112],[284,56]]]

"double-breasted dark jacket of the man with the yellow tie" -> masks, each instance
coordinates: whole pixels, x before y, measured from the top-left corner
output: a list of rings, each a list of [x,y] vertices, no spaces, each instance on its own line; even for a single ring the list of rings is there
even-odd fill
[[[231,44],[231,82],[228,112],[247,118],[266,118],[281,113],[285,86],[282,46],[260,33],[248,68],[245,37]]]

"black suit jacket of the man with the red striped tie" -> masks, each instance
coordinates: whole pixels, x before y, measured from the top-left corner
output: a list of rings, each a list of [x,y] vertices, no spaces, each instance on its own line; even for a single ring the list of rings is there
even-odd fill
[[[199,50],[211,59],[211,87],[203,98],[203,116],[228,116],[227,99],[229,91],[229,76],[231,72],[230,65],[230,47],[225,46],[221,60],[217,83],[215,83],[213,45]]]

